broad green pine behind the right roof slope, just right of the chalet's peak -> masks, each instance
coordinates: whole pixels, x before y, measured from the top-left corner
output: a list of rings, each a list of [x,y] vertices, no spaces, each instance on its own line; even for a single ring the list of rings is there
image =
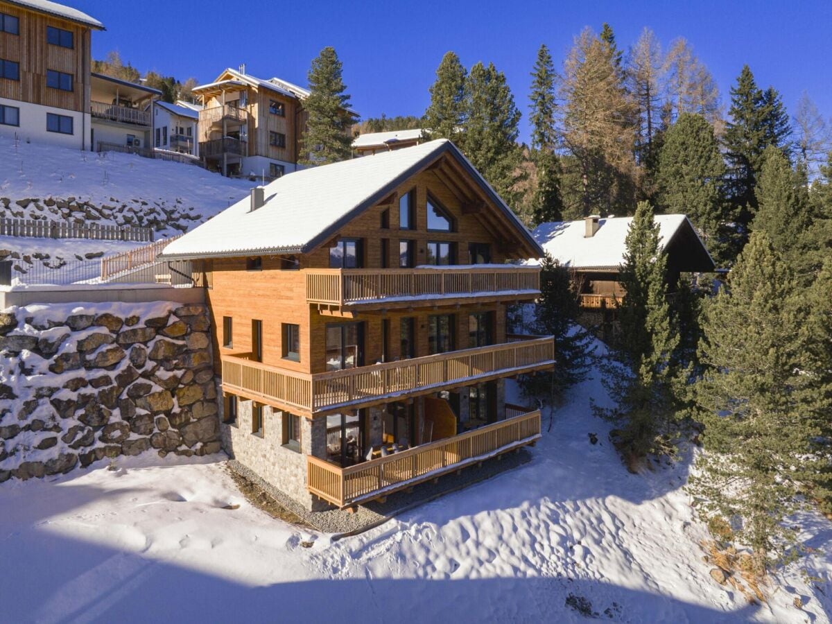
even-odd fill
[[[467,118],[463,151],[508,206],[515,206],[522,178],[517,144],[520,111],[503,72],[478,62],[465,81]]]

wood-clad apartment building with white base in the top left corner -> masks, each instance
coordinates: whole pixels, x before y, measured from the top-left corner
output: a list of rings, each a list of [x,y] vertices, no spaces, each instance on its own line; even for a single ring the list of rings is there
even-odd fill
[[[90,39],[102,22],[47,0],[0,0],[0,135],[90,148]]]

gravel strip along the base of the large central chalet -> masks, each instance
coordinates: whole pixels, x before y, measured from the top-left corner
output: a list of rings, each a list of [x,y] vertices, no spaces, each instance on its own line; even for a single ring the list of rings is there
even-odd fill
[[[281,492],[278,488],[266,483],[260,476],[244,464],[230,459],[228,466],[236,473],[255,483],[268,493],[277,503],[285,507],[291,513],[299,516],[304,522],[323,533],[337,533],[333,538],[339,539],[346,535],[355,535],[377,527],[399,513],[428,503],[434,498],[444,494],[455,492],[465,488],[472,483],[492,478],[504,470],[516,468],[523,463],[531,461],[532,454],[527,448],[522,448],[519,453],[503,453],[502,460],[491,458],[483,461],[481,468],[476,464],[463,468],[462,472],[448,473],[439,477],[437,483],[426,481],[414,485],[414,491],[407,493],[402,490],[389,494],[384,503],[377,501],[359,505],[356,513],[347,513],[340,509],[331,509],[325,512],[310,512],[293,498]]]

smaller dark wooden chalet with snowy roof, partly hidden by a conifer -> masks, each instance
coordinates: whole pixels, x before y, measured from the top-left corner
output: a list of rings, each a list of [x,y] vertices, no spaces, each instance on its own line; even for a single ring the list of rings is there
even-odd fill
[[[714,261],[686,215],[656,215],[659,244],[667,253],[667,280],[674,287],[681,273],[710,273]],[[624,262],[631,216],[588,216],[586,219],[542,223],[532,235],[560,264],[575,270],[582,306],[612,308],[624,291],[619,271]]]

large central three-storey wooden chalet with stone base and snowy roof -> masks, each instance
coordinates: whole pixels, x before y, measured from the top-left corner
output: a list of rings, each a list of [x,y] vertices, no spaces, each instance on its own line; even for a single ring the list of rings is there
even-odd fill
[[[541,248],[453,143],[305,169],[166,246],[208,266],[222,437],[311,509],[353,508],[534,443],[505,379],[552,337],[507,334]]]

